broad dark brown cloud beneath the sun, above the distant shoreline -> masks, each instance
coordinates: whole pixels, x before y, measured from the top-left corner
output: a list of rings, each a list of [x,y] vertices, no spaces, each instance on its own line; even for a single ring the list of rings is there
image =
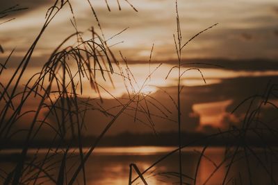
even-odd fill
[[[231,100],[231,103],[229,103],[226,108],[224,107],[224,113],[219,115],[219,112],[212,112],[211,116],[222,116],[222,123],[220,126],[221,129],[227,129],[229,125],[238,125],[240,122],[238,118],[240,118],[240,115],[243,114],[244,109],[240,109],[239,114],[236,113],[234,115],[230,114],[231,110],[234,109],[242,100],[254,94],[254,89],[256,89],[256,93],[262,93],[265,89],[265,85],[267,85],[270,79],[273,81],[278,80],[278,76],[230,78],[223,80],[223,82],[220,84],[215,85],[184,87],[181,94],[182,130],[185,132],[198,132],[199,128],[201,128],[203,131],[207,130],[205,127],[202,129],[203,126],[199,123],[200,116],[202,116],[202,114],[197,114],[197,112],[193,110],[193,105],[199,103],[217,103],[224,100]],[[163,89],[176,100],[175,97],[177,96],[177,87],[163,87]],[[152,116],[152,121],[154,123],[154,129],[156,132],[177,131],[177,109],[175,108],[172,100],[163,91],[156,91],[156,93],[152,94],[152,97],[161,102],[163,106],[167,107],[167,109],[169,109],[171,112],[165,111],[165,109],[161,107],[161,105],[159,105],[156,101],[152,101],[152,103],[160,107],[160,109],[163,110],[165,114],[167,114],[167,118],[160,118],[159,116],[163,116],[161,111],[157,109],[157,107],[149,104],[149,112],[154,115],[158,115],[158,117],[154,115]],[[90,103],[98,107],[98,101],[99,100],[90,100]],[[119,103],[116,100],[105,99],[104,104],[101,104],[101,109],[109,109],[109,107],[116,107],[117,105],[119,105]],[[131,104],[130,107],[136,107],[136,103]],[[211,107],[211,109],[213,109],[213,107]],[[116,114],[119,110],[120,108],[114,109],[111,113]],[[145,107],[145,110],[147,110],[147,107]],[[152,126],[146,118],[146,113],[137,112],[137,118],[140,121],[147,123],[147,125],[140,121],[134,122],[134,115],[134,110],[127,110],[117,119],[115,126],[111,127],[109,134],[118,134],[121,132],[152,132]],[[88,128],[86,133],[94,135],[100,134],[101,130],[104,129],[106,124],[111,121],[111,118],[111,116],[107,116],[99,112],[97,109],[88,111],[85,116],[85,123],[86,127]],[[169,121],[168,119],[173,121]],[[215,124],[211,123],[212,127],[213,125]]]

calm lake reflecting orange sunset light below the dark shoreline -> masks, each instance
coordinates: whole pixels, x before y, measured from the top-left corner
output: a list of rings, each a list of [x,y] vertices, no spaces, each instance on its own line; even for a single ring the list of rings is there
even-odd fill
[[[85,165],[87,184],[128,184],[129,164],[136,164],[142,172],[174,149],[176,148],[157,146],[97,148]],[[194,184],[196,166],[202,150],[203,147],[190,147],[182,150],[183,181],[187,184]],[[196,184],[222,184],[234,150],[235,148],[232,148],[231,152],[227,152],[223,147],[207,148],[199,163]],[[72,149],[71,152],[76,154],[76,151],[78,150]],[[256,154],[256,157],[252,155],[252,151]],[[277,152],[276,149],[275,151]],[[2,169],[8,170],[14,164],[13,161],[4,160],[3,157],[8,154],[15,155],[17,152],[19,150],[3,150],[0,152]],[[46,152],[47,150],[40,150],[37,155],[43,156]],[[29,150],[28,155],[31,156],[35,153],[36,150]],[[228,155],[225,155],[225,153]],[[225,156],[227,160],[223,161]],[[252,184],[276,184],[275,181],[278,182],[278,163],[276,159],[275,155],[270,155],[267,150],[262,148],[247,149],[246,153],[243,149],[239,149],[234,157],[225,184],[250,184],[250,179]],[[74,158],[70,160],[67,163],[67,170],[75,162]],[[144,177],[148,184],[179,184],[178,164],[176,152],[148,170]],[[222,165],[219,167],[220,164]],[[247,164],[250,168],[247,168]],[[56,173],[58,173],[58,170],[56,170]],[[137,174],[133,169],[132,178],[135,179],[135,177],[137,177]],[[79,182],[82,184],[82,181]],[[44,184],[51,183],[44,182]],[[134,184],[143,183],[140,179],[137,179]]]

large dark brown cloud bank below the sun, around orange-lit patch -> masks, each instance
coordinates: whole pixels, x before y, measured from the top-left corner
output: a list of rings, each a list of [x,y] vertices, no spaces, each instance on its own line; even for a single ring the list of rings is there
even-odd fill
[[[231,125],[239,126],[240,119],[243,118],[249,103],[245,103],[245,106],[241,106],[235,114],[230,114],[233,109],[235,109],[245,98],[250,97],[254,94],[263,94],[265,91],[265,87],[268,82],[272,80],[272,82],[278,81],[278,76],[261,76],[261,77],[244,77],[244,78],[230,78],[222,80],[222,83],[206,85],[206,86],[197,86],[197,87],[184,87],[181,94],[181,123],[183,132],[199,132],[198,128],[201,127],[201,131],[208,133],[218,132],[217,127],[213,127],[213,123],[211,125],[200,125],[200,116],[196,114],[193,110],[193,105],[199,103],[215,103],[223,100],[232,100],[231,103],[226,108],[226,113],[222,115],[222,127],[221,129],[228,128]],[[177,87],[163,87],[167,94],[170,94],[174,99],[177,97]],[[151,99],[152,103],[157,105],[154,107],[151,103],[149,103],[149,112],[152,115],[152,123],[149,123],[149,120],[146,116],[146,113],[137,112],[136,118],[138,120],[134,122],[133,116],[135,116],[134,109],[126,109],[123,114],[120,115],[119,118],[115,121],[114,125],[108,131],[108,135],[115,135],[122,132],[130,132],[133,134],[144,134],[153,132],[153,128],[156,132],[177,132],[177,109],[173,104],[172,100],[169,96],[165,94],[163,91],[156,91],[156,93],[152,94],[152,97],[162,103],[165,107],[167,107],[170,112],[165,110],[165,107],[161,106],[154,99]],[[270,97],[272,98],[272,97]],[[127,100],[120,98],[122,103],[126,103]],[[271,99],[270,99],[271,100]],[[104,127],[113,119],[113,116],[109,116],[109,114],[104,114],[101,110],[109,109],[110,114],[117,114],[119,112],[120,107],[117,108],[119,103],[117,100],[113,99],[104,99],[104,103],[101,103],[99,99],[90,99],[88,98],[80,98],[79,103],[87,102],[92,105],[85,114],[85,127],[86,130],[84,132],[85,135],[99,135]],[[31,108],[35,106],[37,101],[32,100],[27,107]],[[85,106],[85,104],[83,104]],[[101,107],[99,106],[101,105]],[[136,107],[136,103],[130,105],[130,107]],[[80,107],[83,109],[84,107]],[[92,109],[91,109],[92,108]],[[147,110],[147,108],[145,107]],[[163,116],[161,110],[167,115],[167,118],[161,118]],[[275,124],[275,116],[277,114],[273,114],[274,111],[277,111],[276,108],[270,109],[269,107],[263,107],[261,115],[263,116],[263,120],[265,123],[269,123],[270,125]],[[44,112],[45,114],[47,112]],[[158,115],[158,116],[155,116]],[[17,124],[18,128],[26,127],[28,125],[28,118],[25,120],[21,120],[20,123]],[[53,116],[49,120],[50,123],[57,125],[56,118]],[[67,118],[66,118],[67,119]],[[153,125],[152,125],[153,124]],[[272,126],[271,125],[271,126]],[[152,128],[153,127],[153,128]],[[274,126],[273,126],[274,127]],[[277,125],[275,126],[277,127]],[[49,127],[45,127],[42,130],[42,134],[40,137],[45,138],[47,135],[45,130],[49,130]],[[69,131],[70,132],[70,131]],[[75,130],[76,132],[76,130]]]

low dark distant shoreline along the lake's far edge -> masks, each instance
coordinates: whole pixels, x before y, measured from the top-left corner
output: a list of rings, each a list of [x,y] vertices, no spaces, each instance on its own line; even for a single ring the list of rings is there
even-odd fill
[[[257,139],[254,136],[249,136],[245,139],[245,144],[240,140],[231,136],[215,136],[211,137],[208,142],[207,134],[202,133],[186,133],[182,134],[183,146],[254,146],[254,147],[266,147],[265,142]],[[131,134],[124,132],[115,136],[105,136],[97,147],[131,147],[131,146],[177,146],[178,134],[175,132],[161,133],[155,135],[149,134]],[[82,139],[83,148],[92,146],[97,140],[96,136],[85,136]],[[278,146],[278,143],[271,138],[265,138],[268,146]],[[51,143],[54,143],[51,145]],[[1,141],[1,149],[18,149],[24,146],[23,141]],[[58,141],[52,142],[47,140],[37,140],[29,143],[29,148],[64,148],[64,146],[71,146],[70,148],[79,147],[78,139],[66,139],[64,143],[58,143]]]

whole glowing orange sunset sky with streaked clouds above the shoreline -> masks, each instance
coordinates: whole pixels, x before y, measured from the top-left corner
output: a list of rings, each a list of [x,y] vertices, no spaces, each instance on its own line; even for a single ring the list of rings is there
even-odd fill
[[[28,7],[28,10],[11,12],[7,17],[0,19],[0,44],[4,53],[0,54],[0,61],[5,61],[10,51],[15,49],[8,64],[9,69],[1,76],[1,82],[10,79],[20,59],[24,56],[33,40],[38,35],[44,22],[47,9],[54,1],[47,0],[13,0],[1,1],[1,10],[19,4],[19,7]],[[89,38],[89,28],[92,26],[100,33],[90,6],[87,1],[71,1],[76,25],[83,31],[83,37]],[[155,71],[152,78],[147,80],[143,89],[146,94],[171,107],[172,119],[175,118],[171,100],[159,90],[167,89],[168,93],[176,98],[177,71],[173,71],[165,80],[168,71],[177,64],[174,49],[173,34],[177,33],[175,3],[172,0],[130,0],[136,10],[126,1],[120,1],[121,10],[116,0],[108,0],[108,10],[105,1],[90,0],[95,8],[104,37],[109,39],[108,45],[115,53],[117,60],[122,62],[121,51],[129,62],[139,86],[145,82],[149,71]],[[14,18],[13,21],[8,21]],[[199,31],[218,23],[210,30],[199,35],[186,46],[182,53],[182,60],[193,62],[212,62],[222,67],[201,66],[202,76],[197,70],[189,71],[181,79],[185,85],[182,94],[184,123],[192,121],[192,125],[183,127],[190,132],[215,131],[216,127],[227,128],[229,123],[238,123],[239,120],[231,115],[232,107],[236,107],[240,100],[254,92],[261,92],[270,78],[277,79],[278,71],[278,1],[276,0],[180,0],[179,18],[183,43]],[[58,12],[51,22],[38,46],[33,53],[31,64],[24,74],[22,84],[26,83],[31,74],[36,73],[46,62],[49,54],[68,35],[75,32],[71,23],[72,14],[67,6]],[[3,24],[1,24],[3,23]],[[126,30],[124,30],[127,28]],[[122,30],[124,32],[120,33]],[[117,35],[117,33],[120,33]],[[149,65],[149,55],[152,52],[152,64]],[[156,67],[163,63],[157,70]],[[72,67],[74,69],[74,67]],[[116,69],[117,67],[115,67]],[[76,68],[75,68],[76,69]],[[183,67],[182,70],[188,69]],[[107,76],[106,76],[107,77]],[[115,88],[109,82],[100,80],[106,91],[101,96],[106,99],[104,107],[114,106],[111,94],[125,97],[126,89],[122,78],[113,76]],[[254,83],[253,81],[261,83]],[[247,83],[249,85],[247,85]],[[139,88],[140,89],[140,88]],[[138,89],[137,89],[138,90]],[[85,91],[81,98],[95,98],[97,94],[85,83]],[[30,100],[26,109],[33,109],[35,100]],[[152,107],[152,106],[151,106]],[[156,107],[152,107],[157,112]],[[87,120],[99,117],[99,122],[105,125],[110,118],[100,117],[99,113],[89,114]],[[103,116],[103,115],[102,115]],[[240,115],[239,115],[240,116]],[[126,127],[125,123],[133,123],[129,116],[123,116],[118,123],[119,128],[111,130],[111,134],[119,132],[134,132],[134,125]],[[28,118],[26,119],[28,120]],[[160,132],[174,131],[167,120],[156,120]],[[24,121],[22,121],[24,122]],[[121,125],[122,124],[122,125]],[[90,126],[89,126],[90,127]],[[97,134],[102,127],[89,129],[89,134]],[[141,132],[152,132],[152,128],[138,126]]]

